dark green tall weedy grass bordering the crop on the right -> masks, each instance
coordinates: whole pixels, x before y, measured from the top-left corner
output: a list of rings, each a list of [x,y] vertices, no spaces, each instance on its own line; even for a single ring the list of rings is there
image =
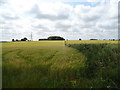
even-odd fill
[[[87,87],[120,88],[118,44],[68,44],[68,47],[79,50],[87,57],[80,75],[89,82]]]

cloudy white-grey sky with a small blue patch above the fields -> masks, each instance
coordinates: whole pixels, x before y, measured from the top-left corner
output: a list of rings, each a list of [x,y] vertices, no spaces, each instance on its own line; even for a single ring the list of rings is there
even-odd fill
[[[0,0],[0,41],[118,39],[118,0]]]

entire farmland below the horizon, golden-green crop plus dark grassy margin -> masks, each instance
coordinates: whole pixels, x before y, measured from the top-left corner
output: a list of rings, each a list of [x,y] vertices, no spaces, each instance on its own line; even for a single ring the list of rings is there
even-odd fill
[[[118,88],[118,41],[2,43],[3,88]]]

